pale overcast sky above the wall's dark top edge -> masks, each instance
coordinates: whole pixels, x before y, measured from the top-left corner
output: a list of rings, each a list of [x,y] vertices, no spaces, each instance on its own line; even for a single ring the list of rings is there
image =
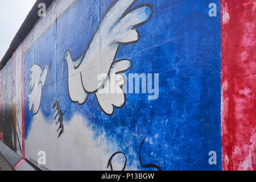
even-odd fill
[[[36,0],[0,0],[0,61]]]

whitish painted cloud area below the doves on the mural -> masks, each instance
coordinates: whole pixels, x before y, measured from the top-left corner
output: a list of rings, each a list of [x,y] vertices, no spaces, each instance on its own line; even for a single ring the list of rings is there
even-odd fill
[[[35,115],[30,134],[26,140],[26,158],[38,160],[38,152],[46,152],[46,166],[50,170],[110,170],[109,158],[119,151],[117,143],[108,141],[105,132],[96,137],[88,121],[81,115],[74,115],[64,123],[64,133],[57,138],[55,123],[47,123],[39,110]],[[113,168],[121,170],[125,163],[122,155],[113,160]],[[126,168],[136,170],[138,163]]]

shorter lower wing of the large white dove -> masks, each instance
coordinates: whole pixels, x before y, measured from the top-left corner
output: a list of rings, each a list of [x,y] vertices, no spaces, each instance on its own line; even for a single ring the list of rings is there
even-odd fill
[[[122,73],[130,67],[130,60],[115,61],[108,78],[95,94],[98,105],[105,114],[112,115],[114,107],[121,108],[125,104],[126,94],[122,87],[126,84],[126,77]]]

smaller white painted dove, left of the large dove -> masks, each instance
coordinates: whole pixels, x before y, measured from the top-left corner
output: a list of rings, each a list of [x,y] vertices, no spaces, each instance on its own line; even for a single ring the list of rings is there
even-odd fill
[[[42,68],[34,64],[30,69],[30,90],[31,93],[28,95],[28,106],[31,111],[33,107],[33,114],[37,114],[41,102],[42,89],[46,83],[46,77],[48,73],[48,65],[42,71]]]

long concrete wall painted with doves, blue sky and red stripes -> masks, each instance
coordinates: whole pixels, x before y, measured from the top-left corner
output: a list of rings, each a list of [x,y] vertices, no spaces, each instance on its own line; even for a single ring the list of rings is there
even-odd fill
[[[225,75],[233,44],[222,47],[221,60],[221,41],[236,29],[227,19],[239,22],[226,12],[245,6],[242,13],[254,13],[255,3],[133,2],[52,3],[0,72],[3,142],[43,170],[255,169],[253,149],[246,149],[251,163],[232,157],[243,152],[229,136],[245,141],[234,132],[240,127],[229,126],[241,113],[225,114],[233,97],[226,92],[235,88],[225,87],[235,77]],[[254,27],[245,22],[243,31]],[[255,115],[250,119],[244,135],[255,138]],[[38,164],[40,151],[46,165]],[[240,167],[228,167],[234,164]]]

